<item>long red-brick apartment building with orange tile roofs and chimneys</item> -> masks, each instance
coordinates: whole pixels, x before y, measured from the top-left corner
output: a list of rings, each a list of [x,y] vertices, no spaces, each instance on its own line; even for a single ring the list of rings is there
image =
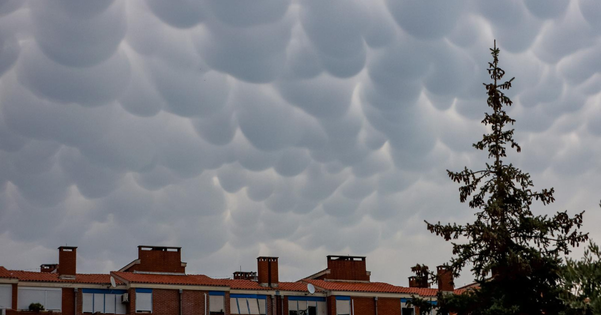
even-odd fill
[[[0,266],[0,314],[31,314],[29,304],[39,302],[47,313],[64,315],[417,315],[405,304],[412,296],[435,304],[439,289],[462,291],[454,290],[443,266],[439,289],[414,277],[409,287],[371,282],[359,256],[328,256],[326,269],[282,282],[278,257],[258,257],[257,272],[224,280],[186,274],[180,247],[139,246],[138,259],[110,274],[78,274],[77,247],[58,251],[58,264],[41,265],[39,272]]]

